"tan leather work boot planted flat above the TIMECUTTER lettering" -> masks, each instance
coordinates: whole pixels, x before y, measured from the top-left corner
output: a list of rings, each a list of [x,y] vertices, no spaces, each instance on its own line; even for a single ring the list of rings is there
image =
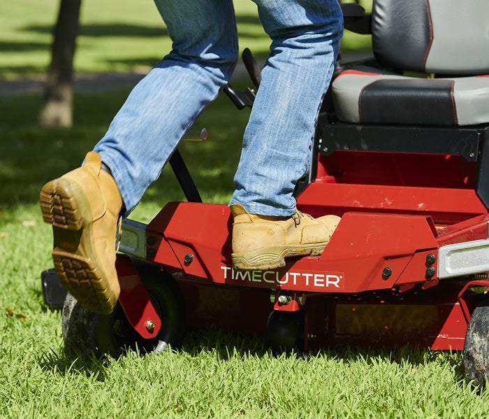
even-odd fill
[[[283,267],[285,257],[321,255],[340,217],[312,218],[297,211],[291,217],[249,214],[240,204],[233,213],[233,267],[265,270]]]

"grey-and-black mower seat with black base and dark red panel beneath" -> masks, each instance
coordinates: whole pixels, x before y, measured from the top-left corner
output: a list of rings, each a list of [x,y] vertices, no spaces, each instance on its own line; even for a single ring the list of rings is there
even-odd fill
[[[374,59],[337,66],[318,124],[327,181],[474,189],[489,208],[489,1],[343,7]]]

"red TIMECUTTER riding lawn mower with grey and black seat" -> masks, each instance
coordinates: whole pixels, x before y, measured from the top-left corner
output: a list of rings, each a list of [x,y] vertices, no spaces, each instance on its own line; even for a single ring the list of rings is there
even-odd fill
[[[341,221],[320,256],[268,271],[231,263],[227,205],[205,204],[175,151],[188,201],[145,225],[126,219],[110,315],[42,274],[63,308],[66,346],[98,355],[158,353],[185,327],[263,334],[274,350],[406,344],[463,350],[465,372],[489,374],[489,2],[374,0],[342,4],[345,28],[372,36],[373,55],[338,59],[316,123],[300,211]],[[254,88],[224,92],[252,106]],[[198,134],[204,134],[198,130]]]

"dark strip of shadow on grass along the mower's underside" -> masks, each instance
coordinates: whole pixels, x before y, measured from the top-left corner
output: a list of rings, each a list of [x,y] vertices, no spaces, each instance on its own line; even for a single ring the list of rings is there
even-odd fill
[[[314,360],[322,357],[333,362],[343,364],[363,364],[367,367],[382,364],[397,364],[401,369],[416,369],[430,363],[448,364],[453,371],[453,380],[465,386],[465,374],[463,371],[461,353],[449,353],[448,351],[431,351],[423,348],[403,346],[402,348],[323,348],[314,353],[272,353],[263,345],[261,336],[243,336],[232,332],[226,332],[217,327],[205,329],[192,329],[187,333],[180,348],[170,348],[176,355],[181,354],[192,358],[201,357],[203,354],[214,354],[219,362],[247,357],[259,357],[275,360]],[[140,353],[130,351],[122,357],[142,357]],[[146,355],[156,356],[158,355]],[[121,362],[110,357],[96,358],[94,356],[78,357],[63,348],[58,352],[51,350],[38,358],[38,363],[45,371],[68,375],[81,375],[96,381],[105,381],[108,377],[108,368],[112,362]]]

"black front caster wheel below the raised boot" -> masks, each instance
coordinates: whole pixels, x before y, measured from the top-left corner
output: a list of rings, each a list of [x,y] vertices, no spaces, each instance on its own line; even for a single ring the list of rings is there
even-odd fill
[[[66,348],[80,355],[104,354],[119,357],[124,351],[159,353],[168,345],[177,346],[182,340],[185,325],[184,299],[170,274],[143,260],[133,260],[162,320],[159,335],[143,339],[126,319],[117,305],[110,315],[93,313],[78,304],[68,293],[62,313],[62,331]]]

